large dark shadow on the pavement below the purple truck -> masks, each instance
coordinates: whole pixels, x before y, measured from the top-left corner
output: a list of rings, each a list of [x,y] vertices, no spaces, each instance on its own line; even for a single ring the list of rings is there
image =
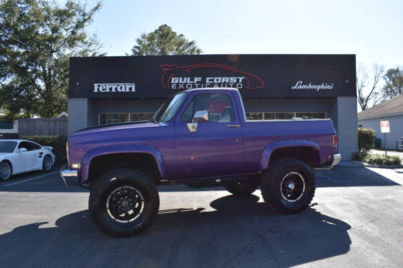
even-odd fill
[[[88,210],[65,215],[57,227],[38,222],[0,235],[2,266],[233,267],[292,266],[350,250],[347,223],[310,207],[278,215],[257,196],[226,196],[211,208],[161,210],[144,233],[113,238]],[[214,210],[215,209],[215,210]]]

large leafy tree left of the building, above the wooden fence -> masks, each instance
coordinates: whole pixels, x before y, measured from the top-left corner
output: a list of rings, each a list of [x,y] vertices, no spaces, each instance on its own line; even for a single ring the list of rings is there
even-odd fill
[[[101,3],[0,1],[0,107],[8,117],[53,117],[67,109],[69,57],[97,56],[85,29]]]

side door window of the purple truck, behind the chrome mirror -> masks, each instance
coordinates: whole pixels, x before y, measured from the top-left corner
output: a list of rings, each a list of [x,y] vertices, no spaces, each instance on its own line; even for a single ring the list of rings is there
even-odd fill
[[[232,122],[235,120],[231,99],[226,94],[197,94],[190,101],[180,121],[191,122],[197,111],[208,111],[209,122]]]

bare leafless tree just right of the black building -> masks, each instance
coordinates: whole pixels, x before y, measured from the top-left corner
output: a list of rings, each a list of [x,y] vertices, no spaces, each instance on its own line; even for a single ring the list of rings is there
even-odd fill
[[[358,103],[360,104],[361,110],[366,110],[369,107],[369,101],[372,100],[372,106],[379,102],[382,97],[380,97],[379,92],[376,91],[379,80],[382,78],[385,72],[385,67],[383,65],[378,65],[377,63],[372,64],[372,76],[369,77],[369,71],[364,64],[359,63],[357,68],[356,83],[358,91]],[[367,90],[368,88],[368,90]]]

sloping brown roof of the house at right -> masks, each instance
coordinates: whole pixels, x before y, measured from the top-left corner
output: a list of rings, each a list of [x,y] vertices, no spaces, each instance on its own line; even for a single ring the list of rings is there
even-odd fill
[[[358,119],[396,114],[403,114],[403,95],[383,101],[380,104],[358,113]]]

